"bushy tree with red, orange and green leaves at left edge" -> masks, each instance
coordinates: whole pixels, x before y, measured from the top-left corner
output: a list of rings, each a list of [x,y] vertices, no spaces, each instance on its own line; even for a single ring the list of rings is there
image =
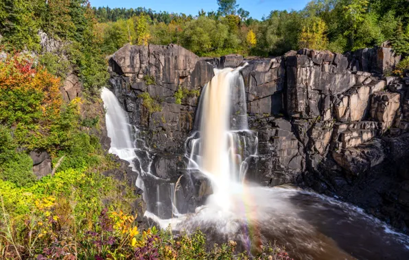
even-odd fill
[[[47,127],[60,112],[60,79],[33,62],[16,53],[0,63],[0,121],[8,125]]]

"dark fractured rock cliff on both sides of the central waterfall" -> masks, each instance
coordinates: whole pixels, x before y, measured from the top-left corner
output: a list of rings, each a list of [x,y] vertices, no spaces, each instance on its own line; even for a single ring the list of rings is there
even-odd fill
[[[248,125],[259,140],[248,179],[338,196],[407,233],[409,77],[384,77],[399,59],[387,47],[244,60],[200,58],[173,44],[127,44],[110,58],[110,88],[143,137],[137,145],[152,161],[147,170],[176,183],[213,68],[248,62],[241,72]],[[191,199],[211,192],[206,181],[196,186]]]

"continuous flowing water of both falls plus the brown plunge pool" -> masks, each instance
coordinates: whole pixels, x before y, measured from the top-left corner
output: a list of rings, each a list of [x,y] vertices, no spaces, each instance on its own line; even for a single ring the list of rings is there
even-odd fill
[[[240,69],[216,70],[200,96],[194,131],[186,141],[183,177],[194,182],[196,175],[204,175],[212,194],[196,210],[183,208],[181,200],[191,194],[178,197],[188,190],[180,191],[179,181],[163,183],[149,174],[149,156],[143,160],[139,155],[149,148],[135,146],[126,112],[112,92],[103,90],[110,152],[131,164],[139,161],[144,199],[152,200],[145,216],[162,228],[199,228],[213,243],[234,240],[247,252],[277,241],[295,259],[409,259],[409,238],[357,207],[290,186],[259,187],[246,181],[248,164],[257,159],[257,134],[247,127]]]

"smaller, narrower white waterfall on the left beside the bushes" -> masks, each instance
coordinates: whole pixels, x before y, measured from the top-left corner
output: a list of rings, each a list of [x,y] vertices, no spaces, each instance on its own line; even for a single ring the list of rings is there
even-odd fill
[[[168,180],[152,174],[151,151],[141,131],[129,124],[128,114],[113,92],[103,88],[101,98],[106,108],[106,129],[111,140],[108,152],[128,161],[132,170],[138,172],[135,184],[143,190],[143,200],[148,212],[159,217],[179,216],[174,183],[166,183]]]

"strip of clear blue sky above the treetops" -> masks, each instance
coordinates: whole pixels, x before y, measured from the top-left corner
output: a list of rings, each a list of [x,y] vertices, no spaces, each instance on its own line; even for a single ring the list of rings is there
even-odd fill
[[[260,19],[270,14],[272,10],[301,10],[310,0],[237,0],[241,8],[250,12],[250,16]],[[203,9],[206,12],[218,10],[216,0],[90,0],[92,6],[110,8],[151,8],[155,11],[183,12],[198,14]]]

